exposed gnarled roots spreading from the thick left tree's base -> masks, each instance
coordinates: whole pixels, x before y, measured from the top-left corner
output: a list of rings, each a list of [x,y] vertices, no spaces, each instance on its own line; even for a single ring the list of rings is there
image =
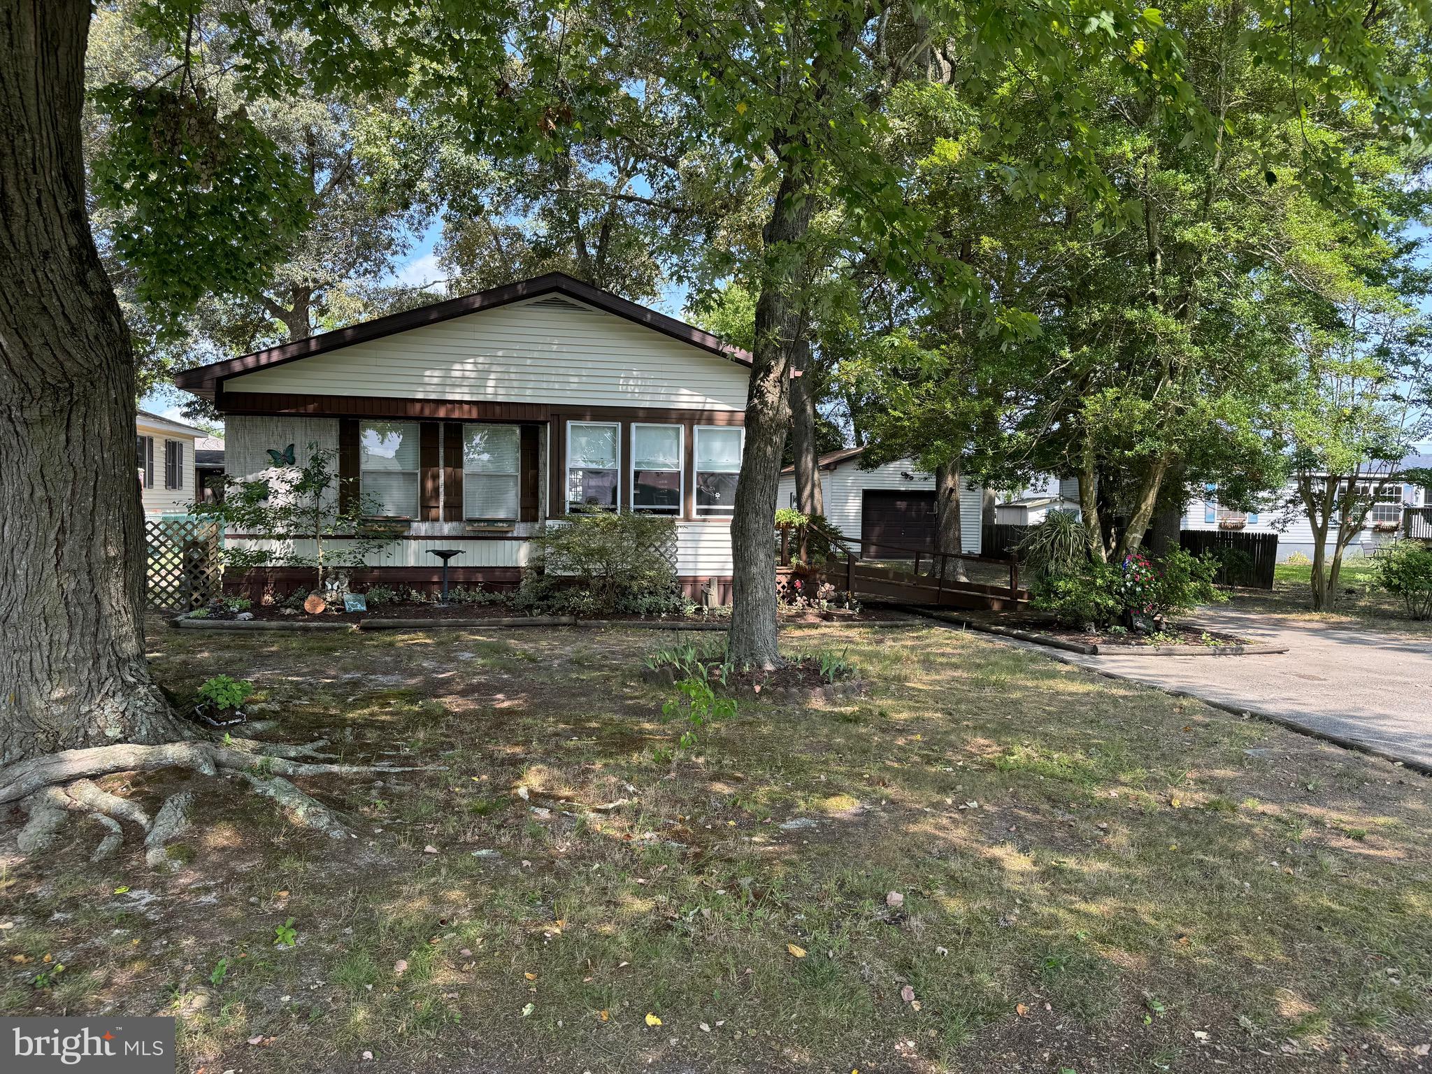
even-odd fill
[[[107,828],[90,861],[100,861],[119,851],[123,842],[122,821],[145,832],[145,859],[153,869],[169,866],[168,845],[189,826],[192,792],[172,795],[149,818],[139,803],[100,789],[93,776],[115,772],[153,772],[182,768],[205,776],[235,775],[255,793],[274,799],[298,825],[312,828],[334,839],[351,836],[338,815],[318,799],[299,790],[289,776],[362,775],[374,772],[441,770],[430,766],[398,768],[391,765],[332,765],[299,760],[322,759],[324,739],[308,745],[282,745],[256,739],[223,742],[170,742],[160,746],[95,746],[50,753],[0,769],[0,803],[19,802],[29,813],[17,845],[32,855],[49,846],[69,813],[86,813]]]

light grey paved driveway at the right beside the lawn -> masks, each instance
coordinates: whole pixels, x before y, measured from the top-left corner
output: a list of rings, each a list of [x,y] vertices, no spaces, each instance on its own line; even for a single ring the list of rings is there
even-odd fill
[[[1068,656],[1070,663],[1276,716],[1432,768],[1432,637],[1290,623],[1226,609],[1206,611],[1199,621],[1257,642],[1286,644],[1289,652],[1061,656]]]

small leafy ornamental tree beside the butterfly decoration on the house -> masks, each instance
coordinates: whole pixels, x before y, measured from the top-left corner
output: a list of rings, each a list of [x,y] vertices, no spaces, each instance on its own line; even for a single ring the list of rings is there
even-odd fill
[[[378,513],[371,498],[338,495],[341,478],[334,470],[338,453],[318,444],[309,444],[308,453],[302,465],[281,463],[259,480],[231,478],[222,501],[195,508],[265,541],[262,547],[226,548],[228,566],[314,567],[322,590],[328,571],[362,567],[368,556],[392,543],[392,533],[364,527],[364,517]]]

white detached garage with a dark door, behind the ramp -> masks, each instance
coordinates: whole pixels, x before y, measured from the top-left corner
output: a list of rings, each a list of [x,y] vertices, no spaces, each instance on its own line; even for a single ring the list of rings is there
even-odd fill
[[[935,547],[935,475],[908,458],[862,470],[865,448],[842,448],[822,455],[821,498],[826,520],[852,541],[862,541],[865,558],[902,558],[904,550]],[[796,507],[795,467],[780,471],[779,507]],[[965,553],[979,554],[984,488],[959,490],[959,538]]]

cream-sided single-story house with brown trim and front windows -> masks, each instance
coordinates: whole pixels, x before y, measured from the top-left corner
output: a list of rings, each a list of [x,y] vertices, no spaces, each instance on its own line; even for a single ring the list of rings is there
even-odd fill
[[[435,302],[179,374],[225,422],[228,477],[271,451],[337,453],[341,495],[401,533],[388,583],[511,587],[531,536],[569,508],[676,521],[676,570],[726,600],[750,355],[561,274]],[[226,544],[262,547],[262,534]],[[286,591],[311,571],[272,570]]]

